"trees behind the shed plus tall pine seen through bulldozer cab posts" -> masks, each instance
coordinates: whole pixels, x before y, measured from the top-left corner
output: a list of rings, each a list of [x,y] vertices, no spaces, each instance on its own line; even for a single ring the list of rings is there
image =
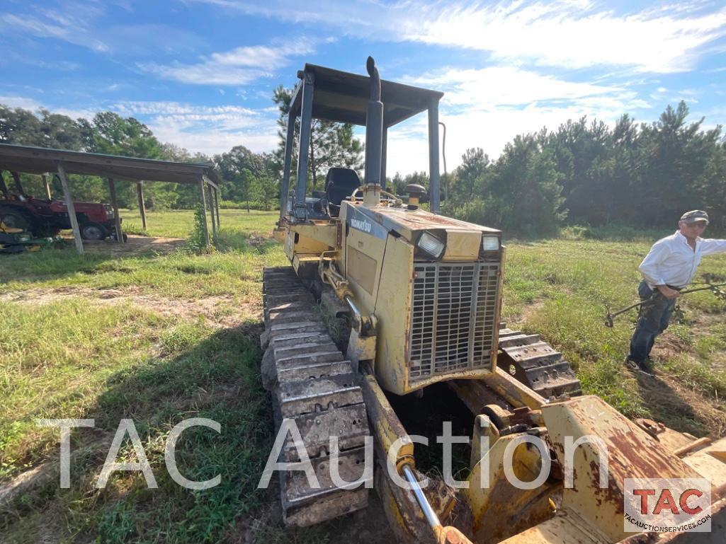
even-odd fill
[[[255,153],[240,145],[228,152],[208,156],[192,154],[173,143],[162,143],[143,123],[123,118],[115,112],[100,112],[91,120],[72,119],[40,109],[37,112],[10,108],[0,104],[0,143],[18,144],[73,151],[118,154],[126,157],[211,162],[221,173],[221,207],[269,210],[280,201],[280,178],[285,154],[287,112],[292,89],[279,86],[272,100],[280,112],[280,145],[272,153]],[[293,141],[299,141],[300,123],[295,123]],[[314,120],[309,156],[309,189],[321,190],[331,166],[362,170],[363,145],[354,138],[353,125]],[[293,159],[293,177],[297,163]],[[73,194],[78,200],[107,201],[107,184],[97,176],[71,176]],[[33,195],[44,194],[39,176],[22,175],[23,186]],[[118,203],[136,207],[136,192],[131,183],[118,180]],[[52,181],[54,195],[60,196],[60,181]],[[190,185],[149,183],[144,186],[145,205],[152,210],[192,208],[197,202],[197,188]]]

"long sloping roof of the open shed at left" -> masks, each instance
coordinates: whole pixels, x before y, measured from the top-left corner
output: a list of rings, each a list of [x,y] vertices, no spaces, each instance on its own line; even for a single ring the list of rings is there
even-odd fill
[[[211,162],[172,162],[0,144],[0,170],[42,174],[55,172],[59,163],[69,174],[131,181],[171,181],[177,184],[198,184],[204,178],[214,187],[221,183],[219,172]]]

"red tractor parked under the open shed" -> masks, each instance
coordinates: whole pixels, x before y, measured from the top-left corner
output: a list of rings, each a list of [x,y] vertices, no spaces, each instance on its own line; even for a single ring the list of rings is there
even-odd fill
[[[1,176],[1,174],[0,174]],[[22,228],[33,236],[55,236],[70,227],[68,206],[62,200],[38,199],[25,193],[20,176],[13,173],[15,192],[0,183],[0,221],[12,228]],[[102,240],[115,233],[113,207],[93,202],[73,202],[78,227],[86,240]]]

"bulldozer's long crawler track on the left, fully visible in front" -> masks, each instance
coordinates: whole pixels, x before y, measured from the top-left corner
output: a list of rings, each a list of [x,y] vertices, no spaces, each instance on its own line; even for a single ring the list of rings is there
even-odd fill
[[[304,448],[320,485],[311,487],[303,471],[279,473],[285,524],[305,527],[367,506],[368,490],[336,487],[329,467],[330,437],[338,436],[340,478],[362,477],[368,419],[356,369],[335,346],[293,268],[265,268],[263,281],[263,383],[272,392],[276,429],[293,419],[303,440],[298,450],[288,433],[279,461],[301,461]]]

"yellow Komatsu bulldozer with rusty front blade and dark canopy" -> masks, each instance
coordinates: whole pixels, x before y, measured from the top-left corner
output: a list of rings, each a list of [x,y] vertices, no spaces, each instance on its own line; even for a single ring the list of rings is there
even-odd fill
[[[263,384],[285,432],[277,461],[296,467],[279,471],[284,523],[366,508],[372,487],[391,541],[726,542],[726,439],[627,419],[583,395],[539,335],[500,323],[502,231],[439,213],[443,94],[381,80],[370,57],[367,75],[306,64],[298,79],[274,231],[290,265],[263,272],[261,335]],[[393,194],[388,128],[421,113],[428,190]],[[314,119],[365,127],[363,181],[331,168],[325,191],[307,194]],[[330,316],[349,323],[347,334],[331,332]],[[441,395],[453,400],[436,403]],[[418,470],[420,438],[407,431],[431,405],[454,402],[473,423],[462,482]],[[629,480],[666,478],[708,480],[710,532],[624,523]]]

